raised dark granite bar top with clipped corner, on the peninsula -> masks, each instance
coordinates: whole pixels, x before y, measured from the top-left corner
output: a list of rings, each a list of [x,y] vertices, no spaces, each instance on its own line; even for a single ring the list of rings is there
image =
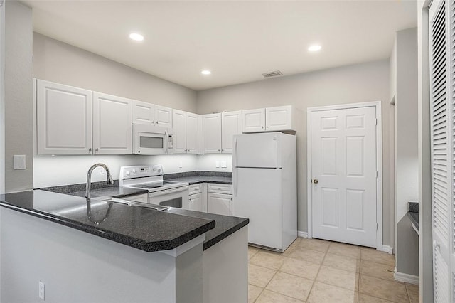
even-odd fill
[[[215,220],[182,216],[50,191],[0,195],[0,206],[69,226],[146,252],[171,250],[215,228]],[[216,238],[216,237],[214,237]]]

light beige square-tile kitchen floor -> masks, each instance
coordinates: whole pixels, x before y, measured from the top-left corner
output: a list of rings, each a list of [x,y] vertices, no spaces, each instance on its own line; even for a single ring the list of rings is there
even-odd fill
[[[283,253],[248,248],[249,302],[419,302],[419,287],[397,282],[395,258],[373,248],[297,238]]]

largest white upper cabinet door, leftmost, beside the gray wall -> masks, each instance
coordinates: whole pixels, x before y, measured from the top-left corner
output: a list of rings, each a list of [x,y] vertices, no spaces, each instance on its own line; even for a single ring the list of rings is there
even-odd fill
[[[91,154],[92,92],[37,80],[36,125],[38,154]]]

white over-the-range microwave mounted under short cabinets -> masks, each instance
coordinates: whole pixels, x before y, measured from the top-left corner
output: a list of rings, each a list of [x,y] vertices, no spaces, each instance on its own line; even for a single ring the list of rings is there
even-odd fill
[[[173,154],[173,129],[133,124],[134,154]]]

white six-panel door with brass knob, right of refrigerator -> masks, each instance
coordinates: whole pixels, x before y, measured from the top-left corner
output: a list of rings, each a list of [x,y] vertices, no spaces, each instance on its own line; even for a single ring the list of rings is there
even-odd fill
[[[314,238],[376,247],[376,108],[311,112]]]

